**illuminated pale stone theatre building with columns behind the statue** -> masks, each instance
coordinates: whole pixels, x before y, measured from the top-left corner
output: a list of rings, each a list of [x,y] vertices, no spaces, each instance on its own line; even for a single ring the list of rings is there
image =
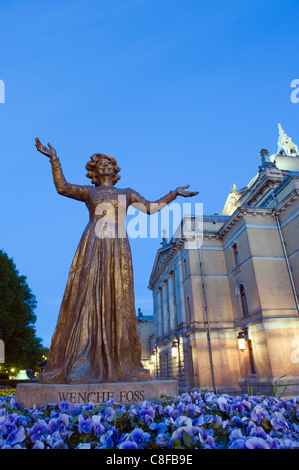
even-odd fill
[[[221,215],[185,217],[157,252],[151,367],[179,391],[299,394],[299,151],[279,125],[259,157]]]

